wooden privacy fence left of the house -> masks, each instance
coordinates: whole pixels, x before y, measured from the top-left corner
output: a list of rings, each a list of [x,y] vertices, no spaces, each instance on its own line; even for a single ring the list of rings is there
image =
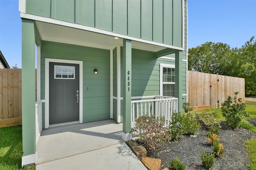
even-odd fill
[[[0,127],[22,124],[22,69],[0,69]]]

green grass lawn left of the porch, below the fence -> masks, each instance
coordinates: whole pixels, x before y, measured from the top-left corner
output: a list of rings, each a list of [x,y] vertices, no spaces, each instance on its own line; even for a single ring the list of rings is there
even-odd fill
[[[0,170],[33,170],[21,167],[22,126],[0,128]]]

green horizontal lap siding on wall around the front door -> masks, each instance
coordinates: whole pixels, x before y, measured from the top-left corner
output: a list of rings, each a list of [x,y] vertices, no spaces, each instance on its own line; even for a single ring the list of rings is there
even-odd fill
[[[83,61],[83,122],[110,118],[109,50],[43,41],[41,47],[42,99],[45,96],[45,58]],[[98,69],[99,74],[94,74],[94,68]],[[42,117],[44,121],[44,112]]]

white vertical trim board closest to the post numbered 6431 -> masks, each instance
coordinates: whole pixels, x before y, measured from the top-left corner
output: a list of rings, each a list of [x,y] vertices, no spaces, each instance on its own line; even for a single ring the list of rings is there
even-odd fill
[[[117,123],[121,122],[121,47],[116,47]]]

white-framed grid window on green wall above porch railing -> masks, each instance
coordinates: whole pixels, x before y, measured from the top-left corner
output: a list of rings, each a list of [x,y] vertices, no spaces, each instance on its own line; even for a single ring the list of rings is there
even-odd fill
[[[175,68],[174,65],[161,65],[160,88],[162,96],[175,97]]]

